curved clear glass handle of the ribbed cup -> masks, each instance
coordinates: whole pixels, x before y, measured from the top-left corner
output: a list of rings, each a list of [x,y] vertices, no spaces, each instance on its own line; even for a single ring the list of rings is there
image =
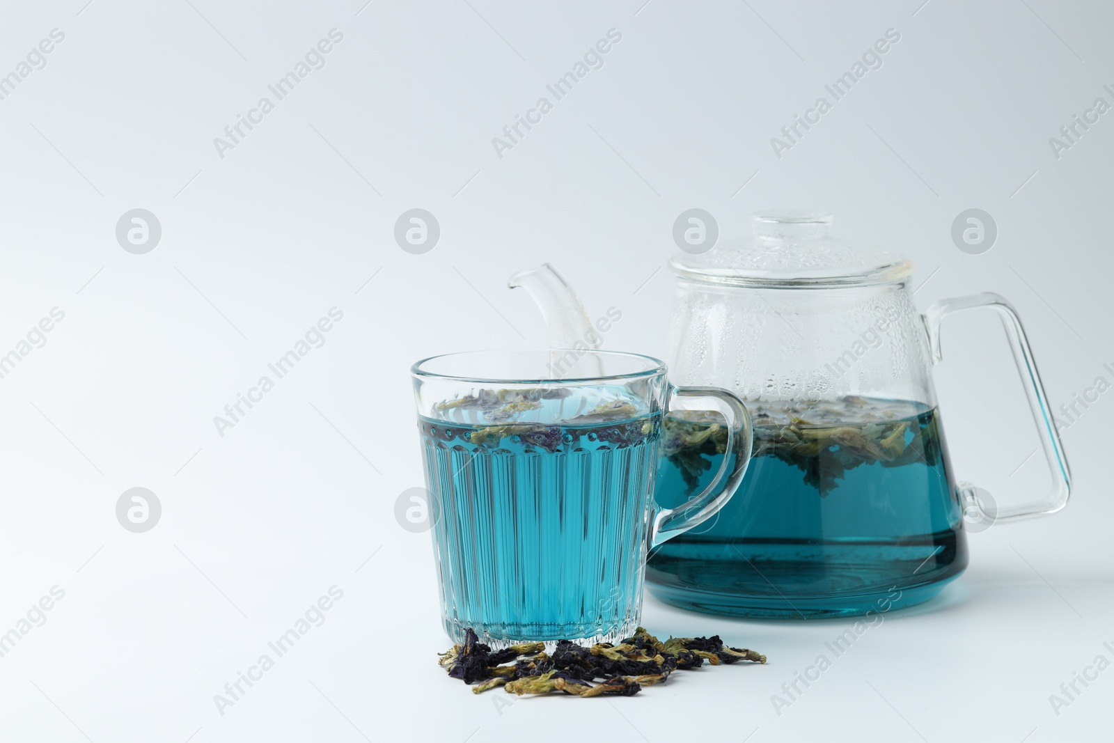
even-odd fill
[[[693,405],[690,401],[703,404]],[[717,387],[674,387],[670,391],[668,409],[715,409],[726,418],[727,442],[720,470],[706,488],[676,508],[662,508],[654,504],[649,529],[652,548],[703,524],[727,505],[746,473],[754,442],[751,416],[746,407],[727,390]],[[732,453],[735,454],[733,465]]]

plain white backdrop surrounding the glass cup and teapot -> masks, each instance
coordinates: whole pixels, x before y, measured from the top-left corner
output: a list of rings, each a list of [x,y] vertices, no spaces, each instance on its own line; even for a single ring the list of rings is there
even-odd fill
[[[0,632],[65,590],[0,658],[0,739],[1108,735],[1114,671],[1058,716],[1048,695],[1114,659],[1114,392],[1064,431],[1064,511],[974,535],[941,598],[887,617],[780,716],[771,694],[849,622],[647,599],[655,632],[717,632],[770,663],[678,673],[633,698],[471,695],[433,664],[448,642],[429,535],[400,528],[394,504],[421,485],[410,363],[541,345],[506,280],[543,261],[593,316],[623,311],[605,348],[664,353],[663,265],[691,207],[724,241],[758,208],[831,209],[838,235],[915,260],[922,309],[1009,297],[1054,407],[1114,382],[1114,114],[1059,159],[1048,144],[1095,98],[1114,104],[1114,8],[85,2],[4,2],[0,21],[0,75],[66,35],[0,100],[0,353],[66,313],[0,379]],[[325,67],[221,158],[214,137],[333,28]],[[603,68],[500,158],[492,137],[613,28]],[[890,28],[883,66],[775,157],[770,138]],[[441,226],[424,255],[393,239],[413,207]],[[970,207],[999,229],[981,255],[950,238]],[[163,228],[144,255],[115,236],[133,208]],[[326,343],[221,437],[214,416],[333,306],[344,317]],[[949,320],[944,343],[958,477],[999,504],[1039,497],[1047,475],[997,321]],[[131,487],[162,502],[146,534],[116,519]],[[222,715],[214,695],[333,585],[326,622]]]

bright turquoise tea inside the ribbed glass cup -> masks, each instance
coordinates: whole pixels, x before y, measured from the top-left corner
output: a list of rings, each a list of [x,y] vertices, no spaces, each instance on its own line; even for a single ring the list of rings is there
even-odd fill
[[[500,646],[633,633],[659,416],[419,427],[450,637],[472,627]]]

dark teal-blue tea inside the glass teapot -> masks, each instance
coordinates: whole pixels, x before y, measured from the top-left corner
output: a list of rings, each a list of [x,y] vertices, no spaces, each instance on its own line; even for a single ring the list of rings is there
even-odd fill
[[[754,457],[742,485],[717,518],[651,555],[652,593],[715,614],[843,616],[926,600],[959,575],[967,545],[938,411],[857,400],[871,422],[856,421],[852,413],[850,421],[802,427],[817,437],[815,451],[786,443],[780,433],[784,419],[759,409]],[[889,454],[900,453],[874,461],[836,442],[842,437],[877,449],[890,434]],[[668,437],[668,423],[663,436]],[[707,468],[696,486],[730,456],[701,454]],[[656,490],[662,505],[684,501],[692,485],[676,459],[662,458]]]

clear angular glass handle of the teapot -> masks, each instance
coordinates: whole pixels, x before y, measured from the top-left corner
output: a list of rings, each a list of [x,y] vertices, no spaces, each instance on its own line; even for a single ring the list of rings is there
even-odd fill
[[[932,363],[937,364],[944,358],[940,353],[940,321],[952,312],[973,307],[990,307],[1001,319],[1001,324],[1009,339],[1009,348],[1014,352],[1014,361],[1017,362],[1017,371],[1022,375],[1022,384],[1029,399],[1029,408],[1037,426],[1045,459],[1048,461],[1048,469],[1052,470],[1053,488],[1052,492],[1043,500],[1001,508],[997,509],[997,512],[993,512],[987,510],[986,504],[979,498],[978,488],[975,488],[970,482],[959,482],[959,504],[964,509],[964,515],[976,524],[1017,521],[1034,516],[1055,514],[1067,505],[1067,498],[1072,490],[1072,475],[1068,471],[1067,459],[1064,457],[1064,449],[1059,442],[1059,432],[1056,430],[1053,412],[1048,408],[1044,385],[1040,383],[1040,375],[1037,373],[1036,362],[1033,360],[1033,351],[1029,350],[1025,329],[1022,327],[1022,321],[1013,305],[1006,301],[1006,297],[986,292],[944,300],[930,306],[924,315],[924,321],[928,331]]]

